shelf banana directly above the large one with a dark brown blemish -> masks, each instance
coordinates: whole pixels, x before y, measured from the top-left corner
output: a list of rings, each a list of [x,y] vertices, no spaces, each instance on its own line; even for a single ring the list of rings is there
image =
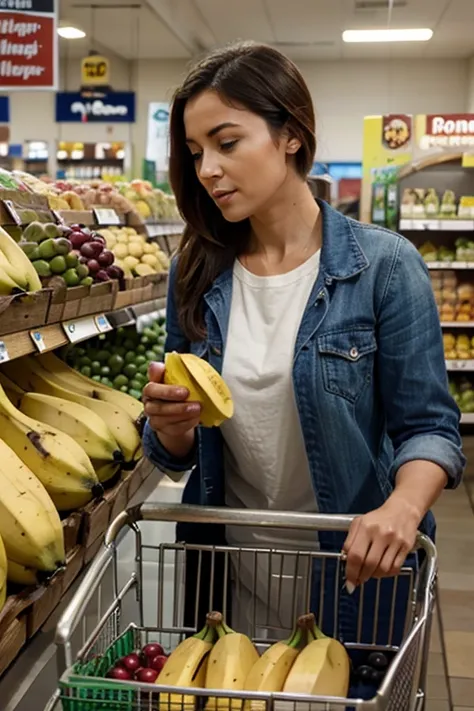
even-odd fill
[[[115,462],[116,465],[123,460],[122,452],[104,420],[83,405],[44,393],[26,393],[20,410],[28,417],[66,432],[91,459]]]

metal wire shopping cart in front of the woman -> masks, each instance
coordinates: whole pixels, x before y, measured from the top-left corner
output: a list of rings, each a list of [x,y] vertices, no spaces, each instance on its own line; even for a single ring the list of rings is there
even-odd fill
[[[405,632],[400,644],[393,643],[395,599],[387,601],[382,592],[383,583],[388,581],[372,581],[376,586],[375,603],[372,599],[376,609],[375,613],[372,610],[373,638],[369,641],[363,639],[362,634],[365,614],[363,587],[360,592],[357,638],[347,643],[346,647],[351,654],[383,651],[391,658],[385,677],[370,700],[288,696],[281,693],[219,693],[200,689],[191,692],[190,689],[104,679],[108,665],[150,641],[158,641],[165,649],[173,649],[187,635],[199,629],[199,609],[203,605],[206,607],[208,604],[208,609],[219,609],[226,615],[229,599],[232,595],[235,597],[242,575],[248,577],[250,574],[254,579],[255,587],[247,600],[244,616],[259,649],[265,649],[276,639],[288,637],[292,621],[307,612],[311,603],[314,610],[315,567],[319,571],[317,580],[321,601],[317,617],[321,621],[325,614],[323,601],[328,600],[327,588],[331,582],[334,589],[329,599],[334,601],[334,635],[337,634],[338,606],[345,581],[343,554],[319,550],[264,550],[250,546],[161,543],[153,541],[158,528],[156,522],[342,533],[349,529],[352,520],[349,516],[165,504],[142,504],[124,511],[109,527],[103,549],[94,559],[58,623],[59,689],[45,711],[194,711],[204,709],[206,698],[210,696],[217,697],[216,708],[220,711],[226,707],[229,711],[256,707],[259,711],[420,711],[425,703],[437,571],[436,549],[421,533],[418,534],[416,548],[423,551],[422,565],[418,569],[404,568],[391,585],[393,596],[397,586],[401,588],[400,581],[404,581],[409,590]],[[127,532],[128,535],[125,535]],[[133,555],[130,555],[131,542]],[[123,555],[124,549],[129,551],[128,560]],[[192,582],[186,579],[189,575],[189,556],[194,564],[195,580]],[[263,586],[262,571],[265,577]],[[219,576],[222,583],[217,586],[221,595],[220,606],[219,603],[216,605],[215,599]],[[196,589],[194,609],[191,611],[192,624],[189,621],[189,594],[186,595],[190,585]],[[203,600],[203,595],[209,595],[209,599]],[[388,638],[383,644],[377,635],[378,607],[382,601],[385,608],[388,606],[392,610]],[[232,624],[236,626],[234,622]],[[331,634],[327,628],[325,631]],[[170,703],[169,696],[162,696],[168,702],[160,702],[160,692],[180,692],[183,696],[172,698],[187,701]],[[257,701],[258,704],[244,704],[245,701]]]

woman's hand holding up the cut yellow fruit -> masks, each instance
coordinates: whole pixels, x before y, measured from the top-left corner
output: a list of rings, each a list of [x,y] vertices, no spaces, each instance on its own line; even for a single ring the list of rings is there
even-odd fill
[[[188,440],[201,417],[201,405],[186,402],[189,391],[163,382],[165,366],[151,363],[148,369],[149,383],[143,390],[145,414],[150,427],[156,432],[163,445],[169,449],[169,440]],[[187,448],[187,447],[186,447]],[[175,449],[175,447],[172,447]]]

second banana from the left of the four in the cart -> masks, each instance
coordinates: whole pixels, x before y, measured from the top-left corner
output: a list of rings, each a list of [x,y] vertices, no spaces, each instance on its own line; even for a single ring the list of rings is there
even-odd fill
[[[209,654],[206,673],[206,689],[239,691],[245,688],[245,680],[258,661],[258,652],[250,639],[228,627],[220,613],[216,631],[219,639]],[[206,711],[226,709],[239,711],[242,702],[238,699],[209,698]]]

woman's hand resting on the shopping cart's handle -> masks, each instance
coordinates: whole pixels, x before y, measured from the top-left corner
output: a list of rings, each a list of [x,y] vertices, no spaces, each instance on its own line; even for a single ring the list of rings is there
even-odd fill
[[[347,583],[358,586],[397,575],[415,545],[419,524],[419,514],[393,495],[379,509],[354,519],[344,543]]]

